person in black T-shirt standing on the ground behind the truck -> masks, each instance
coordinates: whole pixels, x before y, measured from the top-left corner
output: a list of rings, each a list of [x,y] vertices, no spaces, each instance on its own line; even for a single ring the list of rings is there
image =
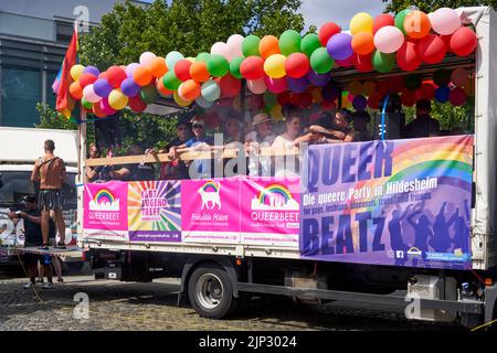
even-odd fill
[[[22,205],[24,206],[23,211],[18,212],[9,212],[9,218],[17,225],[21,220],[23,220],[24,224],[24,247],[39,247],[43,244],[42,236],[42,217],[41,212],[36,206],[36,199],[31,195],[25,195],[22,201]],[[53,224],[53,234],[55,234],[55,225]],[[31,288],[35,284],[36,271],[38,271],[38,261],[40,260],[43,264],[44,272],[47,277],[47,282],[43,286],[44,289],[52,288],[52,267],[50,263],[46,264],[43,261],[44,256],[40,256],[36,254],[24,254],[24,264],[28,269],[28,276],[30,277],[30,281],[24,286],[24,288]],[[49,257],[50,258],[50,257]]]

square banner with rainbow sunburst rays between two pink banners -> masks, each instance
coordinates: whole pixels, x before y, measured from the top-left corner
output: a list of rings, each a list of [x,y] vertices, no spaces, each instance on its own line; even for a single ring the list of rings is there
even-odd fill
[[[181,242],[179,181],[128,183],[130,242]]]

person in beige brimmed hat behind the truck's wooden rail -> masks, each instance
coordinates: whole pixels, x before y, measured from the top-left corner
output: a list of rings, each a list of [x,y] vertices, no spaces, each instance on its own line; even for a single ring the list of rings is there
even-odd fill
[[[276,139],[271,121],[271,117],[265,113],[255,115],[252,120],[255,130],[245,136],[245,151],[250,154],[248,175],[251,176],[271,175],[271,157],[255,154],[261,148],[271,147]]]

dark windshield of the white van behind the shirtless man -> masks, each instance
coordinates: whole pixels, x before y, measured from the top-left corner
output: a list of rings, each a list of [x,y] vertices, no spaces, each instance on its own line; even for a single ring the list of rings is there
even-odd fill
[[[35,195],[38,197],[38,190],[33,186],[30,178],[30,171],[2,171],[0,206],[13,206],[18,204],[20,199],[24,195]],[[76,207],[77,205],[75,179],[75,173],[67,173],[67,179],[63,184],[65,204],[71,207]]]

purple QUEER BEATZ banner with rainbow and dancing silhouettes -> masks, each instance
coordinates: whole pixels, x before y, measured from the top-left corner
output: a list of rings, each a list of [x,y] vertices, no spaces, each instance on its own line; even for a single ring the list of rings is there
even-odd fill
[[[467,269],[473,136],[318,145],[300,182],[306,259]]]

